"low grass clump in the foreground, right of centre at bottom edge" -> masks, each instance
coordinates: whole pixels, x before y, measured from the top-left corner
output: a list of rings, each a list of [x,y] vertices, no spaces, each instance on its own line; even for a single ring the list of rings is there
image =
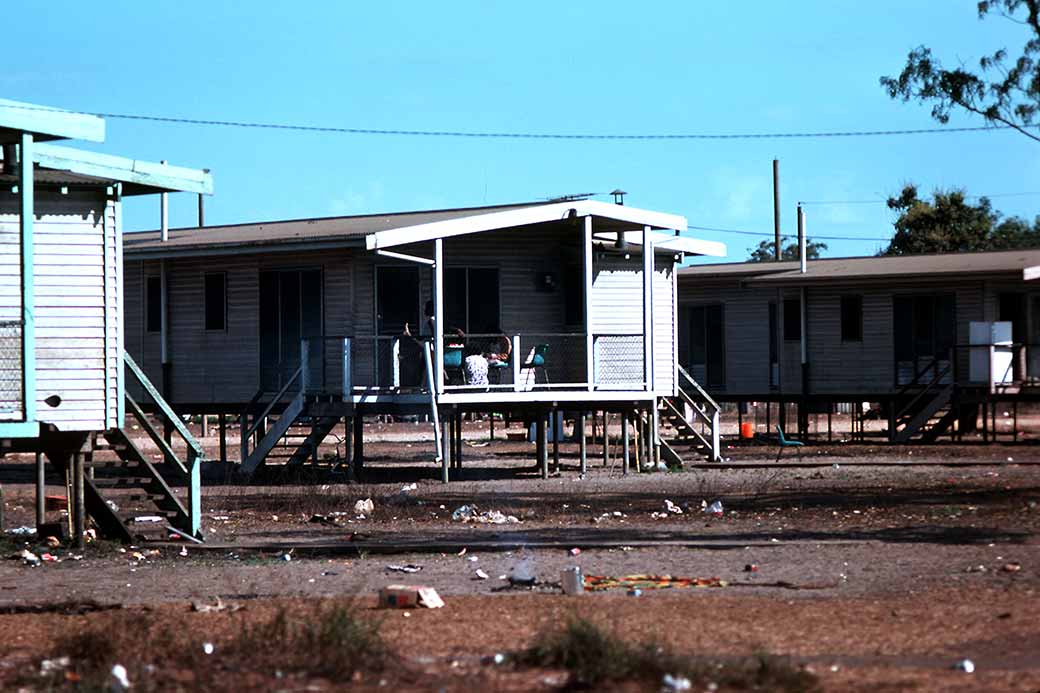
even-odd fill
[[[721,690],[820,690],[814,675],[785,658],[759,653],[712,662],[678,654],[654,642],[628,644],[579,617],[571,617],[562,627],[543,631],[530,647],[513,660],[521,666],[567,670],[567,688],[572,690],[621,682],[642,683],[656,690],[666,674],[686,677],[694,686],[714,683]]]

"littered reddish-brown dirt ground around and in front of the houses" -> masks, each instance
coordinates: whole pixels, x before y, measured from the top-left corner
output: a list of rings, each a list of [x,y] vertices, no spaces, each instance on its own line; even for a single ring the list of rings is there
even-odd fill
[[[176,624],[177,648],[202,652],[212,643],[213,651],[192,659],[192,669],[180,660],[166,666],[174,645],[116,648],[111,658],[132,658],[120,663],[146,690],[203,681],[227,690],[553,690],[572,675],[494,657],[578,615],[625,642],[712,662],[789,658],[823,690],[1040,690],[1040,466],[1031,464],[1040,446],[817,445],[803,456],[816,467],[623,477],[590,445],[582,479],[575,445],[564,444],[563,468],[542,480],[529,466],[532,446],[485,444],[486,425],[472,425],[461,480],[443,485],[423,435],[413,425],[371,427],[364,483],[209,483],[204,546],[102,543],[78,560],[51,549],[60,561],[37,567],[3,561],[0,685],[53,686],[38,674],[42,662],[69,653],[70,635],[104,639],[95,634],[147,623]],[[771,463],[775,448],[730,443],[726,457]],[[27,460],[8,458],[0,474],[6,527],[31,523]],[[355,504],[365,499],[373,510],[362,515]],[[722,514],[704,512],[716,500]],[[464,505],[517,521],[453,520]],[[23,544],[37,550],[31,537],[8,534],[6,542],[8,554]],[[724,586],[567,596],[561,571],[575,565],[586,575],[718,578]],[[508,580],[524,571],[537,578],[534,588]],[[445,606],[375,609],[375,592],[395,583],[434,587]],[[217,599],[231,608],[192,609]],[[236,634],[275,613],[306,618],[315,604],[348,604],[378,620],[394,664],[340,679],[306,667],[279,678],[264,673],[262,658],[242,663]],[[973,673],[955,668],[965,659]],[[220,675],[201,678],[199,667]],[[695,681],[694,690],[713,685]],[[597,688],[655,690],[659,682]]]

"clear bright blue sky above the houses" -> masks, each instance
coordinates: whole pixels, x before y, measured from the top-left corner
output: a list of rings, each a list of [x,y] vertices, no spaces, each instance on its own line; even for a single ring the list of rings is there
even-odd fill
[[[925,44],[973,65],[1023,27],[974,0],[310,2],[7,0],[0,96],[113,113],[472,131],[779,132],[935,127],[885,96]],[[978,125],[955,118],[956,125]],[[771,232],[799,200],[1040,190],[1040,146],[1012,132],[724,142],[417,138],[108,121],[97,149],[211,169],[207,223],[496,204],[622,187],[691,225]],[[605,196],[601,199],[608,199]],[[994,198],[1029,219],[1040,195]],[[191,196],[171,222],[194,223]],[[886,237],[883,204],[807,207],[810,236]],[[158,201],[128,203],[154,228]],[[751,236],[692,231],[744,259]],[[827,255],[878,242],[832,241]]]

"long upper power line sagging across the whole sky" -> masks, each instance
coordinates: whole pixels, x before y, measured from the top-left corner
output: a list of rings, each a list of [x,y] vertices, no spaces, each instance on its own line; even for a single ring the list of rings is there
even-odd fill
[[[0,108],[21,108],[25,110],[59,110],[41,106],[21,106],[0,104]],[[1005,125],[983,125],[961,128],[917,128],[903,130],[840,130],[815,132],[731,132],[731,133],[562,133],[562,132],[504,132],[504,131],[467,131],[467,130],[410,130],[390,128],[355,128],[319,125],[297,125],[291,123],[261,123],[252,121],[224,121],[198,118],[174,118],[170,116],[142,116],[138,113],[103,113],[98,111],[61,112],[97,116],[129,121],[147,121],[153,123],[175,123],[180,125],[205,125],[234,128],[255,128],[266,130],[293,130],[297,132],[327,132],[357,135],[404,135],[414,137],[471,137],[485,139],[811,139],[825,137],[876,137],[890,135],[945,134],[952,132],[983,132],[1011,129]]]

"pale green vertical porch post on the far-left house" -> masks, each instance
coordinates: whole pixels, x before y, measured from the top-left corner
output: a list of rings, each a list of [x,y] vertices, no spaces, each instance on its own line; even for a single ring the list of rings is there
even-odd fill
[[[33,289],[32,225],[35,219],[32,133],[22,133],[19,196],[22,200],[22,409],[26,421],[36,420],[36,322]]]

